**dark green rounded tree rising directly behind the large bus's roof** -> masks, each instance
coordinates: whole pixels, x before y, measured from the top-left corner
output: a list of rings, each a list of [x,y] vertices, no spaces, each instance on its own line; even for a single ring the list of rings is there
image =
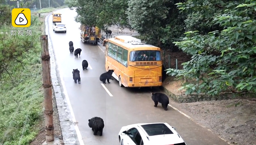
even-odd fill
[[[172,42],[185,32],[186,14],[179,13],[175,3],[181,0],[129,0],[127,15],[131,27],[145,36],[145,41],[174,49]]]

